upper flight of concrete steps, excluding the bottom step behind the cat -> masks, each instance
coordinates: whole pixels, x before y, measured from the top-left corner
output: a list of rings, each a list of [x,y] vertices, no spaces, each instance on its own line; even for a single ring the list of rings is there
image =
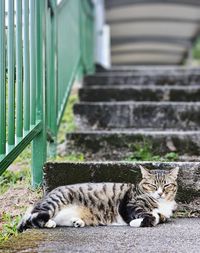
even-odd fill
[[[179,161],[200,154],[200,71],[181,67],[115,68],[88,76],[74,113],[77,131],[67,149],[87,160],[124,160],[135,143],[152,152],[177,152]]]

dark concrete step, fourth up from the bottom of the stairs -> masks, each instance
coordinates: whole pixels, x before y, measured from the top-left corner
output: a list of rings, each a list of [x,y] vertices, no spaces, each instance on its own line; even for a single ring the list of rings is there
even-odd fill
[[[79,89],[81,101],[200,101],[200,85],[110,85]]]

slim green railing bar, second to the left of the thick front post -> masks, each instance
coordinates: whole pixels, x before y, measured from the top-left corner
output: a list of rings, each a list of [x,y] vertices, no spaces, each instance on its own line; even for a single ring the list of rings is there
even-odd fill
[[[29,1],[23,0],[24,131],[30,129]]]

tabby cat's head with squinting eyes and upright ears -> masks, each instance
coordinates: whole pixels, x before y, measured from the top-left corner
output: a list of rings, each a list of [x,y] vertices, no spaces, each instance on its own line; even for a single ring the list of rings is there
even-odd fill
[[[166,170],[147,170],[140,165],[142,181],[139,183],[139,191],[153,198],[174,200],[177,192],[177,175],[179,168]]]

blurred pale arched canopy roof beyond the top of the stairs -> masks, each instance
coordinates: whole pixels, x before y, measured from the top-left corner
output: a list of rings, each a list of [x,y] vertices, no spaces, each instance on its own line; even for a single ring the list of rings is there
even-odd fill
[[[198,64],[198,0],[97,2],[105,5],[112,65]]]

